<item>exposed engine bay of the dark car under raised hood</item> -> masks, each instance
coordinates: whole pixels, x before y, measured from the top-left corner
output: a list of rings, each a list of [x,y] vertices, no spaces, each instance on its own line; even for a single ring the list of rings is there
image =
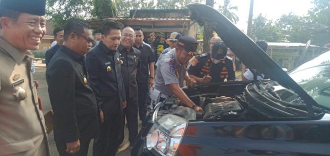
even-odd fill
[[[218,89],[221,89],[221,86]],[[226,88],[222,90],[224,89]],[[158,108],[157,118],[166,114],[175,114],[187,120],[266,121],[277,119],[299,120],[308,116],[306,110],[295,107],[290,102],[281,102],[279,96],[275,96],[279,99],[269,99],[263,96],[265,93],[262,83],[250,83],[240,92],[236,91],[235,94],[202,93],[198,91],[195,93],[197,94],[190,93],[189,98],[200,106],[205,114],[199,114],[193,109],[183,107],[178,98],[171,96]],[[319,113],[315,115],[317,116]]]

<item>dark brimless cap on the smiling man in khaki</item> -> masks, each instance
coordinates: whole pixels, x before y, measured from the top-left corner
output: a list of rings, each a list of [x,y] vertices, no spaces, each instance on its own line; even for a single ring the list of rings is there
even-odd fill
[[[1,9],[43,16],[46,14],[46,0],[0,0]]]

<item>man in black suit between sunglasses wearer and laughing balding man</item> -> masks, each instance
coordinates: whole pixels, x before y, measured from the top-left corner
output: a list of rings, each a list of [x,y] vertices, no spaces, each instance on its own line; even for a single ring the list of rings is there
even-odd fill
[[[101,117],[100,136],[94,140],[94,156],[115,156],[126,95],[117,50],[121,25],[114,21],[102,27],[101,41],[86,55],[86,69],[95,90]]]

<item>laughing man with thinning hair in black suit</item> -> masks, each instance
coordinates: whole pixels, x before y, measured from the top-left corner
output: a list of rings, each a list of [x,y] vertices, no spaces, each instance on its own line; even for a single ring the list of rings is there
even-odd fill
[[[124,140],[124,126],[126,118],[128,141],[132,146],[136,136],[138,135],[138,84],[136,81],[136,75],[137,70],[140,67],[141,52],[133,47],[136,34],[131,27],[125,27],[121,36],[118,51],[120,58],[122,59],[121,74],[123,75],[127,107],[123,111],[119,143],[122,143]]]

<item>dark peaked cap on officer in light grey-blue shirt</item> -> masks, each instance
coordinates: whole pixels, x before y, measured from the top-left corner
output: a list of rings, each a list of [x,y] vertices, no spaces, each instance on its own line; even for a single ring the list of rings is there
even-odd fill
[[[177,46],[184,48],[189,55],[194,56],[199,54],[199,52],[197,52],[198,43],[196,39],[190,36],[181,36],[178,40]]]

